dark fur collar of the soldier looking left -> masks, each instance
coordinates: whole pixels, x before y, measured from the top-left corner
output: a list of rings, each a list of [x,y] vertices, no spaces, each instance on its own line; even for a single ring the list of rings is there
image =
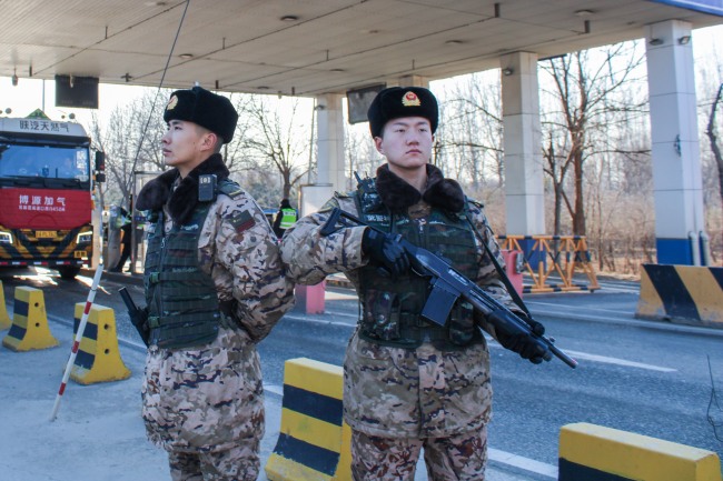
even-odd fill
[[[148,182],[138,194],[138,210],[158,211],[166,206],[174,222],[182,224],[190,220],[198,204],[198,177],[215,173],[220,182],[228,178],[228,169],[220,153],[215,153],[180,179],[178,169],[161,173]]]

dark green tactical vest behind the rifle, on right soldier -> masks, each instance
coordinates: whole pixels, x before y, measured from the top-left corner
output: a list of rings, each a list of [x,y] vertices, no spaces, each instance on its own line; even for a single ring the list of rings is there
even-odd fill
[[[406,214],[390,213],[369,184],[366,183],[364,192],[356,192],[361,220],[385,232],[402,234],[413,244],[446,259],[469,279],[477,275],[477,245],[465,211],[456,213],[433,207],[429,217],[417,223]],[[393,280],[380,275],[378,269],[378,265],[367,264],[359,270],[359,335],[363,339],[407,349],[432,342],[443,350],[482,342],[472,304],[457,300],[445,325],[428,322],[420,313],[429,295],[429,280],[412,272]]]

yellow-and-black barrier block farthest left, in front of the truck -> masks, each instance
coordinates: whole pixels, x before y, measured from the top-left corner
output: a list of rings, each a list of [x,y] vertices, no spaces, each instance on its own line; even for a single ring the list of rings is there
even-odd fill
[[[31,351],[58,345],[50,333],[46,300],[40,289],[16,288],[12,325],[2,345],[12,351]]]

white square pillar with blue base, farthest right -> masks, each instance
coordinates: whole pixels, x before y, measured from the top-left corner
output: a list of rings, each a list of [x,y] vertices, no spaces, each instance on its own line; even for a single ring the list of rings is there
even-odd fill
[[[647,26],[655,240],[661,264],[700,264],[705,231],[691,24]]]

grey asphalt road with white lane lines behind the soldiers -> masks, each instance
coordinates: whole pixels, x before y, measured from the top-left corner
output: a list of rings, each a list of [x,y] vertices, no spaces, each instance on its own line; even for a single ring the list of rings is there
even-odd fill
[[[75,303],[85,303],[91,282],[85,275],[66,281],[40,269],[0,271],[0,280],[9,303],[16,285],[37,287],[44,291],[49,317],[68,322]],[[492,343],[491,447],[556,465],[561,427],[590,422],[711,450],[723,458],[723,428],[716,438],[707,419],[723,424],[723,329],[636,320],[637,284],[602,284],[594,293],[525,295],[547,335],[577,359],[577,369],[557,359],[533,365]],[[139,343],[117,294],[122,285],[142,303],[138,279],[122,274],[103,277],[96,303],[115,309],[121,340]],[[356,318],[354,292],[338,288],[327,290],[325,313],[287,314],[259,345],[265,384],[280,390],[287,359],[341,364]],[[712,384],[720,407],[710,410]]]

